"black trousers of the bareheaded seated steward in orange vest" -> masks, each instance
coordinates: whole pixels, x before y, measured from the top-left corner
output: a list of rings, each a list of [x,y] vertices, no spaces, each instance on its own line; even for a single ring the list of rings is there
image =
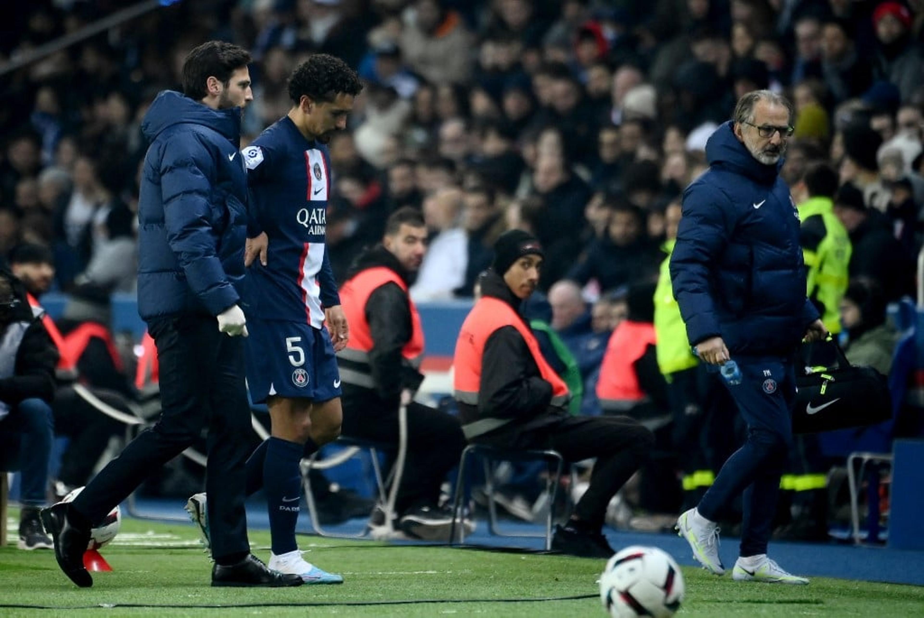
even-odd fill
[[[357,389],[359,390],[359,389]],[[372,442],[398,443],[395,406],[369,405],[369,397],[350,397],[345,389],[341,433]],[[440,485],[458,464],[465,435],[456,417],[417,402],[407,405],[407,457],[395,499],[398,515],[416,506],[439,502]]]

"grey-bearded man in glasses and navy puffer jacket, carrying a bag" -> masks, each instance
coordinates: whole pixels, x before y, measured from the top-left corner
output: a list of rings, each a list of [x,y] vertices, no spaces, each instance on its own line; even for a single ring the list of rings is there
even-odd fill
[[[808,584],[767,557],[787,451],[792,446],[799,341],[827,333],[806,297],[799,218],[779,177],[791,103],[772,91],[738,101],[735,117],[706,144],[710,169],[683,197],[671,256],[674,296],[699,357],[734,357],[740,383],[726,383],[748,425],[745,444],[725,462],[696,508],[677,520],[693,556],[715,575],[724,567],[716,520],[744,491],[744,526],[732,576],[739,581]]]

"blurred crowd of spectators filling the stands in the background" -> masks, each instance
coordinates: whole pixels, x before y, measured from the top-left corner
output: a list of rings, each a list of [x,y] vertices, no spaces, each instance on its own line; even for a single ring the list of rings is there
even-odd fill
[[[126,4],[18,7],[8,24],[18,36],[0,42],[0,64]],[[42,246],[52,289],[134,292],[141,118],[157,92],[177,89],[188,51],[221,39],[253,55],[241,148],[286,115],[293,68],[336,55],[365,84],[330,142],[326,242],[337,281],[403,206],[423,212],[431,235],[410,290],[418,302],[473,297],[497,238],[529,232],[545,251],[545,294],[531,310],[577,365],[576,411],[600,415],[607,342],[626,318],[653,321],[664,244],[684,188],[708,166],[707,139],[742,94],[767,89],[795,104],[782,169],[794,204],[832,200],[832,224],[852,248],[839,291],[819,295],[825,323],[848,356],[853,346],[852,360],[888,373],[897,337],[886,306],[914,294],[921,248],[922,29],[918,0],[181,2],[4,76],[6,100],[18,103],[0,109],[0,256]],[[663,378],[650,373],[638,366],[651,386],[637,412],[650,429],[667,426],[658,448],[669,463],[655,458],[646,473],[653,483],[673,477],[676,491],[665,498],[642,484],[629,502],[675,515],[696,503],[731,446],[707,435],[715,431],[672,442]],[[724,422],[712,416],[722,402],[698,404],[704,427]],[[710,456],[679,465],[675,455],[700,443]],[[816,467],[795,462],[791,472]],[[511,488],[509,502],[531,491]],[[790,502],[796,523],[829,515],[817,496]]]

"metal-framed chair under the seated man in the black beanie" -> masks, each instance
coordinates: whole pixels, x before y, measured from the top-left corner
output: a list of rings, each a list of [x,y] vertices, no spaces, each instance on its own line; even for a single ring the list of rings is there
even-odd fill
[[[553,504],[555,503],[555,493],[558,491],[558,485],[562,478],[562,470],[565,467],[565,460],[557,451],[548,450],[521,450],[521,449],[502,449],[487,444],[468,444],[459,457],[459,471],[456,478],[456,495],[453,499],[453,527],[450,529],[449,542],[456,542],[456,529],[461,533],[462,519],[462,498],[466,494],[466,466],[469,455],[480,455],[484,464],[485,492],[488,497],[488,530],[492,535],[498,537],[539,537],[545,539],[545,550],[552,549],[552,520]],[[541,460],[549,465],[549,478],[546,480],[545,491],[548,496],[550,508],[545,516],[545,530],[541,533],[535,532],[505,532],[497,525],[497,507],[494,504],[494,487],[493,476],[494,467],[502,461],[537,461]],[[458,539],[460,542],[462,539]]]

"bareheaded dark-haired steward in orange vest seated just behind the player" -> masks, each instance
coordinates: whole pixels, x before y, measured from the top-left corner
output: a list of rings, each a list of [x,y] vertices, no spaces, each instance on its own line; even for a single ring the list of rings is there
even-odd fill
[[[350,340],[337,352],[343,382],[342,435],[398,444],[398,411],[407,409],[407,458],[395,500],[397,527],[415,539],[448,540],[453,517],[440,486],[456,466],[465,437],[456,417],[411,401],[423,382],[423,329],[407,289],[427,250],[423,215],[393,212],[381,244],[359,256],[340,302]],[[384,526],[383,511],[371,527]],[[381,519],[380,519],[381,518]]]

